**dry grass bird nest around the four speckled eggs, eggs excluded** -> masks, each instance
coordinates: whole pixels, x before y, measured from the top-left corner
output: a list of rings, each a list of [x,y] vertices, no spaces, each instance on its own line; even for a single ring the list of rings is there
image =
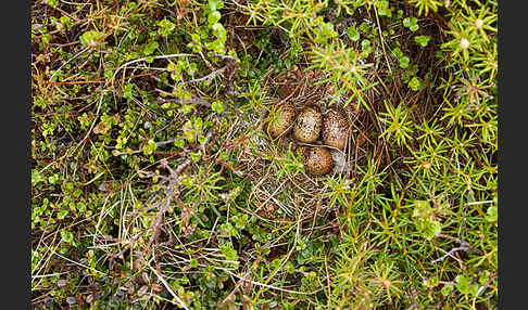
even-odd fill
[[[325,74],[307,69],[309,65],[298,64],[286,74],[268,70],[263,79],[266,96],[259,102],[256,113],[248,114],[240,124],[247,133],[244,143],[238,147],[236,169],[251,182],[249,205],[253,209],[250,211],[264,221],[330,212],[328,178],[353,182],[357,167],[365,166],[376,151],[375,139],[369,137],[372,120],[367,114],[354,100],[347,104],[345,95],[336,95],[330,83],[320,82]],[[374,94],[365,93],[368,95]],[[285,102],[292,103],[298,112],[306,105],[316,105],[323,115],[331,107],[345,116],[350,126],[347,145],[342,151],[328,147],[334,167],[326,176],[315,177],[299,169],[302,165],[299,146],[325,146],[320,140],[300,143],[292,137],[292,130],[277,139],[267,134],[265,124],[269,111],[273,105]]]

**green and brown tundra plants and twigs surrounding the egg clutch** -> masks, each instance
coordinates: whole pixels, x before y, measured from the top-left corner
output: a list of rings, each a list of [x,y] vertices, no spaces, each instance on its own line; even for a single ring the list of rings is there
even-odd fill
[[[496,12],[33,1],[33,305],[496,309]],[[347,113],[338,171],[277,99]]]

